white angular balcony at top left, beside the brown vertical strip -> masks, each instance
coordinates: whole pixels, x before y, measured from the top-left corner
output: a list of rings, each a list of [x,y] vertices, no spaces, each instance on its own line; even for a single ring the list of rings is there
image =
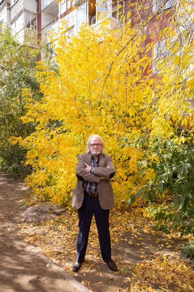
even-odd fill
[[[22,10],[30,11],[37,14],[36,0],[17,0],[13,5],[10,12],[10,21],[12,21]]]

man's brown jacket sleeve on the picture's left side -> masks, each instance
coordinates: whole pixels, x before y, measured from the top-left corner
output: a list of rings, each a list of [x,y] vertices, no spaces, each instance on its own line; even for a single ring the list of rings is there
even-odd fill
[[[84,164],[84,157],[82,155],[78,156],[78,165],[77,165],[77,173],[76,176],[79,180],[84,182],[90,182],[90,183],[99,183],[100,177],[95,176],[91,172],[87,172],[85,170],[85,164]]]

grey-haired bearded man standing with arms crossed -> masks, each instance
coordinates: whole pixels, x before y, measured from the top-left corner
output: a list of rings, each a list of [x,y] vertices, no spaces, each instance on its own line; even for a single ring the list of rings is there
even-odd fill
[[[117,271],[116,264],[111,258],[109,232],[109,210],[114,206],[110,179],[114,174],[113,162],[111,156],[104,153],[102,138],[99,135],[90,136],[86,153],[78,156],[78,181],[72,197],[72,206],[78,209],[79,218],[77,260],[73,265],[73,272],[78,272],[84,261],[93,213],[102,258],[111,270]]]

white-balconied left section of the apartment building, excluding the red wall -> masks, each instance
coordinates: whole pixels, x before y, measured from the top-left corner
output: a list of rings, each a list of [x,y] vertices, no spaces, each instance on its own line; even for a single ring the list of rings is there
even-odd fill
[[[58,0],[1,0],[0,24],[8,24],[20,43],[29,37],[35,46],[37,37],[58,30],[63,20],[69,23],[69,35],[76,34],[82,22],[98,28],[102,14],[110,18],[110,29],[118,28],[122,7],[123,0],[105,0],[101,4],[96,0],[62,0],[60,3]]]

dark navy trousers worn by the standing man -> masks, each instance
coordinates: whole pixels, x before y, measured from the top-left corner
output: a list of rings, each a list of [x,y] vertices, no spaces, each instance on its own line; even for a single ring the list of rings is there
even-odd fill
[[[105,262],[111,260],[111,238],[109,232],[109,210],[104,210],[98,197],[84,196],[81,208],[78,209],[79,233],[77,242],[77,262],[84,261],[92,216],[95,216],[102,258]]]

